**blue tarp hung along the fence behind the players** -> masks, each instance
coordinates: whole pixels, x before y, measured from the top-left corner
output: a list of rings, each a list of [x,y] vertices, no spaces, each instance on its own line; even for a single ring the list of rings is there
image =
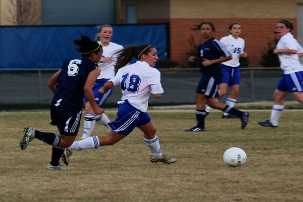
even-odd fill
[[[160,60],[166,59],[166,25],[113,26],[112,41],[123,46],[150,44]],[[73,40],[87,35],[92,39],[97,26],[0,27],[1,69],[60,69],[62,62],[81,58]]]

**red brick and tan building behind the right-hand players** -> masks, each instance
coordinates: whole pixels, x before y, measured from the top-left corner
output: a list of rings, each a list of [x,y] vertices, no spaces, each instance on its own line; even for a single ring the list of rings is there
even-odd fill
[[[190,28],[202,21],[214,23],[217,30],[215,37],[218,39],[228,34],[229,24],[240,22],[250,67],[260,66],[262,53],[268,48],[267,43],[276,37],[273,32],[279,20],[293,22],[295,29],[292,33],[297,37],[299,1],[296,0],[167,0],[153,1],[153,5],[147,5],[145,1],[121,2],[122,8],[137,5],[138,23],[170,23],[170,58],[181,66],[187,66],[186,52],[191,49],[188,42],[190,36],[194,37],[196,44],[201,40],[200,33]],[[121,14],[126,16],[123,12]],[[125,22],[125,19],[121,18],[121,22]]]

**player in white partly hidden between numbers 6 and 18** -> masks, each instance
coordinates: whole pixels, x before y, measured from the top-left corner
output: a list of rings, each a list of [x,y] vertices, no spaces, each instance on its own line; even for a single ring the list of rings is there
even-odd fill
[[[112,94],[112,89],[105,94],[98,93],[98,89],[101,88],[109,79],[115,76],[114,65],[117,62],[116,52],[123,49],[122,45],[111,42],[113,37],[113,28],[110,25],[102,25],[99,28],[96,40],[99,40],[103,46],[103,55],[98,65],[100,66],[101,73],[98,76],[97,80],[93,86],[93,92],[95,96],[95,102],[99,106],[104,106],[107,98]],[[106,126],[109,130],[111,129],[108,125],[110,119],[108,116],[103,113],[102,115],[96,115],[88,100],[87,97],[84,98],[85,102],[85,114],[84,114],[84,130],[82,137],[80,139],[85,139],[89,137],[92,133],[95,123],[102,124]]]

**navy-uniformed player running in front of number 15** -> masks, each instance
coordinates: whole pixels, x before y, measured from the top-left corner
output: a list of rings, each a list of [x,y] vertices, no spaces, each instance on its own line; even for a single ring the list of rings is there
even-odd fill
[[[193,30],[200,30],[203,42],[199,45],[197,53],[201,60],[200,72],[202,77],[196,88],[195,103],[196,103],[196,122],[197,125],[186,129],[187,132],[206,131],[205,118],[207,116],[205,99],[207,104],[215,109],[225,113],[235,115],[241,120],[241,129],[248,124],[248,112],[239,111],[229,105],[218,102],[219,84],[222,80],[222,72],[220,63],[231,60],[230,53],[222,45],[220,41],[213,37],[215,26],[211,22],[203,22],[196,25]],[[189,57],[189,62],[196,59],[194,56]]]

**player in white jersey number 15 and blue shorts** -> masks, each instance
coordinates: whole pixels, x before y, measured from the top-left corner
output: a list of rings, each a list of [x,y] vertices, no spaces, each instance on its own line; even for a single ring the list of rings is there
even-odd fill
[[[239,37],[241,33],[241,25],[238,22],[231,23],[229,25],[228,36],[224,36],[220,39],[220,42],[224,45],[227,51],[231,54],[232,60],[221,63],[221,71],[223,74],[222,81],[220,82],[220,97],[221,99],[227,91],[228,86],[230,86],[230,95],[226,100],[226,105],[234,107],[237,102],[237,96],[239,93],[240,86],[240,58],[246,58],[247,53],[245,53],[244,45],[245,42]],[[211,107],[206,108],[206,112],[210,113],[212,111]],[[223,113],[222,118],[237,118],[228,113]]]

